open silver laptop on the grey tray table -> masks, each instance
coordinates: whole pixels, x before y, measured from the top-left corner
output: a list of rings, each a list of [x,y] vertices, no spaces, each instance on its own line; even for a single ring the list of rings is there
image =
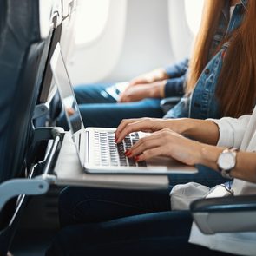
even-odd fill
[[[128,135],[121,143],[115,143],[115,128],[85,128],[60,44],[56,45],[50,66],[59,90],[65,115],[82,169],[89,174],[193,174],[195,167],[167,157],[155,157],[150,161],[135,162],[124,153],[136,141],[147,134]]]

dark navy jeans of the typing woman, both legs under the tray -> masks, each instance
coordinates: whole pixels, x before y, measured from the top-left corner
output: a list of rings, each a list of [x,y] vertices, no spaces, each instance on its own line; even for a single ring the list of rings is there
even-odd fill
[[[230,255],[187,242],[193,220],[188,211],[170,211],[170,189],[65,189],[60,213],[67,219],[61,216],[63,228],[46,255]],[[73,206],[84,200],[65,213],[62,203],[67,198]]]

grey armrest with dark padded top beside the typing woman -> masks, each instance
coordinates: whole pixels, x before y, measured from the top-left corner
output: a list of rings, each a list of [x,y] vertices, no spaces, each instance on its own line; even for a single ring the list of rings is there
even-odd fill
[[[202,233],[256,231],[256,195],[195,200],[190,211]]]

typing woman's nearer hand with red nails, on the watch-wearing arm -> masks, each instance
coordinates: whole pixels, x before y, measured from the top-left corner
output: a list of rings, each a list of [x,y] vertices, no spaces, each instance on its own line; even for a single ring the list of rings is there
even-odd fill
[[[167,156],[187,165],[195,165],[201,161],[201,149],[198,141],[189,140],[174,131],[164,128],[141,138],[126,154],[135,161],[145,161],[154,156]]]

